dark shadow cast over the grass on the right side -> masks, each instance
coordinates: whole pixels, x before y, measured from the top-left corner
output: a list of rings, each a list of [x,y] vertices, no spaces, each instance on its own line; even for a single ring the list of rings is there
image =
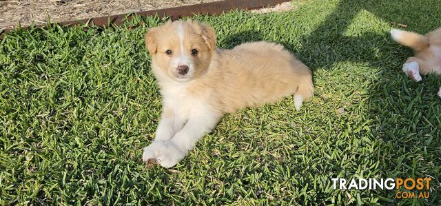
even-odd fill
[[[428,199],[398,199],[395,198],[396,190],[373,191],[376,196],[382,196],[381,204],[441,203],[440,100],[435,96],[440,86],[439,77],[423,76],[421,83],[414,83],[402,74],[401,65],[412,52],[391,41],[389,33],[365,32],[356,37],[348,37],[344,33],[360,12],[369,12],[392,27],[408,24],[407,30],[424,34],[440,26],[433,22],[441,18],[440,10],[433,10],[437,5],[440,6],[438,0],[342,0],[311,34],[300,38],[302,49],[280,42],[309,65],[313,72],[330,70],[345,62],[365,64],[378,70],[376,81],[369,88],[368,116],[375,125],[366,135],[371,141],[380,142],[375,149],[378,155],[371,157],[381,164],[379,173],[367,178],[434,178]],[[262,40],[265,40],[262,33],[248,30],[230,35],[223,44],[233,48],[247,41]]]

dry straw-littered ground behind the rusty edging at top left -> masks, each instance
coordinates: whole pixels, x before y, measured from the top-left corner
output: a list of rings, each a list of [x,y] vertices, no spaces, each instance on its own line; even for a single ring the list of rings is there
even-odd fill
[[[220,0],[0,0],[0,29],[51,22],[88,19]]]

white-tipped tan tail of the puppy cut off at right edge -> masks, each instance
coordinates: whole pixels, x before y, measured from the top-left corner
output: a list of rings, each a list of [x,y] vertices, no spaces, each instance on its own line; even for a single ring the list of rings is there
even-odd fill
[[[429,39],[421,34],[392,29],[391,36],[396,42],[416,51],[421,51],[429,47]]]

